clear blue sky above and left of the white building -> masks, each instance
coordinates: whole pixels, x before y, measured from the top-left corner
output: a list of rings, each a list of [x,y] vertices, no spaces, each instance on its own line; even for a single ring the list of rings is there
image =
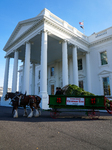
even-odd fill
[[[4,83],[5,52],[3,48],[19,21],[36,17],[44,8],[85,35],[112,26],[112,0],[0,0],[0,87]],[[8,87],[12,87],[13,59],[10,60]],[[20,61],[19,61],[20,64]]]

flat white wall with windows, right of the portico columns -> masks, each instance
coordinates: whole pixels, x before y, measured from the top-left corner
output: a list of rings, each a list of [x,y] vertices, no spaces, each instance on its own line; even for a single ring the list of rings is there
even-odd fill
[[[101,65],[100,52],[107,51],[107,65]],[[103,82],[102,77],[109,76],[110,86],[112,89],[112,44],[111,42],[106,42],[105,44],[99,44],[90,48],[90,64],[91,64],[91,84],[92,92],[96,95],[103,94]],[[112,92],[111,92],[112,93]]]

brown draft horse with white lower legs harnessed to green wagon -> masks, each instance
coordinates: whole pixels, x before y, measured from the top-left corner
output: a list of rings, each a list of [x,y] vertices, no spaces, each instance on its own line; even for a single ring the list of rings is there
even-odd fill
[[[35,117],[38,117],[41,112],[40,112],[40,102],[41,102],[41,98],[39,96],[36,95],[26,95],[26,94],[22,94],[19,92],[16,93],[7,93],[5,95],[5,100],[8,100],[9,98],[11,98],[11,102],[12,102],[12,106],[13,106],[13,111],[14,111],[14,118],[18,117],[18,106],[19,107],[24,107],[24,115],[23,116],[27,116],[27,111],[26,111],[26,105],[29,105],[31,108],[31,112],[28,115],[28,118],[31,118],[33,116],[33,107],[35,108],[36,112],[35,112]]]

